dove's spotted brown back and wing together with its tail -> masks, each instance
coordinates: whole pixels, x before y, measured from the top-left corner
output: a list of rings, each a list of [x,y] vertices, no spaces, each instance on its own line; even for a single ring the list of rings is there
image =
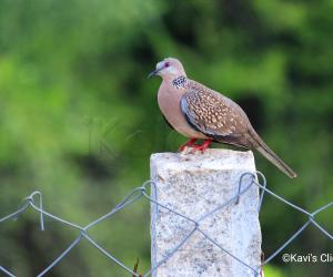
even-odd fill
[[[256,134],[244,111],[224,95],[188,80],[181,107],[189,123],[214,141],[259,151],[291,178],[296,174]]]

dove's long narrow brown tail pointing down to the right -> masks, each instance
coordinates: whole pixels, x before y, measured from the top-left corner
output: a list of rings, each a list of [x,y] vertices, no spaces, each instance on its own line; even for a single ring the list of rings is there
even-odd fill
[[[273,163],[280,171],[286,174],[289,177],[294,178],[297,174],[289,167],[286,163],[284,163],[255,133],[254,130],[249,130],[249,134],[251,136],[251,141],[253,143],[253,147],[258,150],[265,158],[268,158],[271,163]]]

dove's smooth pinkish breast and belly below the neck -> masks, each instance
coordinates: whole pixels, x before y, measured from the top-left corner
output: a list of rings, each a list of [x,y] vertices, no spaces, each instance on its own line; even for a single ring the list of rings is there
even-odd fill
[[[201,132],[195,131],[186,121],[183,115],[180,102],[184,91],[181,89],[172,88],[162,82],[159,93],[158,102],[160,110],[171,126],[188,137],[208,138]]]

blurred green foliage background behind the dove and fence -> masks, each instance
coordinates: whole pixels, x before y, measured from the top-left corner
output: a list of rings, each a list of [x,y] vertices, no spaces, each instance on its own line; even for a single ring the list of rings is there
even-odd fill
[[[333,195],[333,2],[281,0],[0,0],[0,217],[32,191],[44,208],[85,225],[149,178],[154,152],[185,138],[164,123],[155,63],[179,58],[188,75],[236,101],[293,167],[290,179],[256,155],[268,185],[307,211]],[[219,146],[219,145],[214,145]],[[219,146],[221,147],[221,146]],[[266,256],[305,216],[265,197]],[[317,217],[333,229],[332,209]],[[91,229],[139,271],[150,267],[144,201]],[[36,276],[77,233],[29,211],[0,225],[0,265]],[[332,254],[310,226],[283,253]],[[332,263],[283,264],[266,276],[329,276]],[[80,243],[49,276],[129,276]]]

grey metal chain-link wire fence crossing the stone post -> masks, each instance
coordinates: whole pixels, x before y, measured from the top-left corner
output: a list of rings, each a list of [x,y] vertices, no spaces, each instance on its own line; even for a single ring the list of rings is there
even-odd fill
[[[245,184],[244,179],[245,176],[250,176],[250,182],[248,184]],[[142,184],[142,186],[134,188],[122,202],[120,202],[113,209],[111,209],[108,214],[97,218],[95,220],[91,222],[90,224],[88,224],[87,226],[80,226],[75,223],[65,220],[59,216],[56,216],[49,212],[47,212],[46,209],[43,209],[43,203],[42,203],[42,194],[40,192],[33,192],[32,194],[30,194],[27,198],[24,198],[23,203],[20,205],[20,207],[0,218],[0,223],[7,222],[9,219],[16,219],[18,218],[18,216],[20,214],[22,214],[24,211],[27,211],[29,207],[34,209],[36,212],[38,212],[40,214],[40,228],[41,230],[44,230],[44,217],[48,217],[50,219],[53,219],[56,222],[59,222],[61,224],[64,224],[73,229],[78,230],[78,236],[75,237],[75,239],[48,266],[46,267],[40,274],[38,274],[38,276],[44,276],[47,273],[49,273],[53,267],[56,267],[62,259],[65,258],[65,256],[83,239],[85,239],[87,242],[89,242],[91,245],[93,245],[98,250],[100,250],[101,254],[105,255],[110,260],[112,260],[113,263],[115,263],[117,265],[119,265],[120,267],[122,267],[124,270],[127,270],[129,274],[131,274],[132,276],[150,276],[153,271],[155,271],[158,269],[158,267],[160,267],[161,265],[168,263],[168,260],[193,236],[194,233],[199,232],[201,233],[210,243],[212,243],[213,245],[215,245],[218,248],[220,248],[222,252],[224,252],[225,254],[228,254],[230,257],[232,257],[233,259],[238,260],[240,263],[240,265],[251,269],[253,271],[253,276],[258,277],[262,275],[262,267],[264,265],[266,265],[269,261],[271,261],[274,257],[276,257],[287,245],[290,245],[309,225],[314,225],[321,233],[323,233],[325,236],[327,236],[330,239],[333,240],[333,235],[332,233],[330,233],[329,230],[326,230],[323,226],[321,226],[316,220],[315,220],[315,216],[321,213],[324,209],[327,209],[329,207],[333,206],[333,202],[317,208],[316,211],[310,213],[303,208],[301,208],[300,206],[286,201],[285,198],[276,195],[275,193],[273,193],[272,191],[270,191],[269,188],[266,188],[266,179],[264,177],[264,175],[260,172],[258,172],[258,176],[260,176],[261,178],[261,183],[256,181],[256,176],[253,173],[244,173],[241,175],[240,179],[239,179],[239,188],[236,194],[230,198],[229,201],[221,203],[220,205],[218,205],[216,207],[214,207],[211,212],[204,214],[203,216],[200,217],[200,219],[194,220],[193,218],[190,218],[185,215],[182,215],[181,213],[179,213],[178,211],[174,211],[168,206],[165,206],[163,203],[157,202],[155,199],[153,199],[152,197],[149,196],[149,189],[154,188],[155,184],[151,181],[147,181]],[[249,179],[249,177],[248,177]],[[253,267],[252,265],[248,265],[246,263],[244,263],[242,259],[240,259],[235,254],[232,254],[231,252],[229,252],[228,249],[225,249],[222,245],[220,245],[218,242],[215,242],[214,239],[212,239],[203,229],[201,229],[200,226],[200,222],[206,217],[209,217],[210,215],[212,215],[213,213],[215,213],[216,211],[223,209],[230,205],[235,205],[241,201],[241,196],[243,194],[246,193],[246,191],[251,187],[251,186],[258,186],[259,189],[261,189],[261,194],[260,194],[260,202],[259,202],[259,212],[261,208],[261,204],[264,197],[264,194],[269,194],[271,196],[273,196],[275,199],[284,203],[285,205],[290,206],[293,209],[296,209],[297,212],[304,214],[307,216],[307,220],[301,226],[301,228],[299,228],[284,244],[281,245],[281,247],[279,247],[273,254],[271,254],[266,259],[262,260],[262,264],[259,267]],[[118,213],[119,211],[129,207],[131,204],[138,202],[139,199],[145,199],[150,203],[152,203],[152,205],[157,205],[160,208],[167,209],[171,213],[173,213],[176,216],[180,216],[186,220],[189,220],[189,223],[193,224],[193,229],[183,237],[183,239],[172,249],[169,249],[165,252],[164,258],[161,259],[154,267],[152,267],[151,269],[149,269],[144,275],[140,275],[137,273],[137,270],[132,270],[129,266],[124,265],[121,260],[119,260],[115,256],[113,256],[110,252],[108,252],[107,249],[104,249],[101,245],[99,245],[97,243],[97,240],[88,234],[88,230],[92,227],[95,226],[98,224],[100,224],[101,222],[112,217],[115,213]],[[0,265],[0,273],[4,273],[7,276],[11,276],[14,277],[16,275],[13,273],[11,273],[9,269],[7,269],[3,265]]]

